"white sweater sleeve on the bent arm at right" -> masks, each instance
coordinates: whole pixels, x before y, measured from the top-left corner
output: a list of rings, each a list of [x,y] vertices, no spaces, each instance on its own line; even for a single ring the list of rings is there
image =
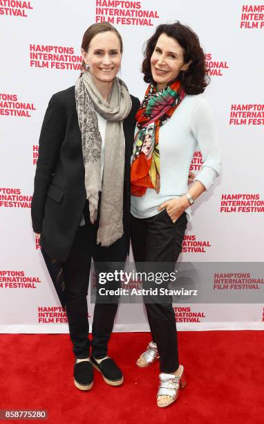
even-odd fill
[[[201,96],[192,116],[191,130],[202,153],[203,162],[195,181],[200,181],[208,189],[220,175],[220,147],[211,107]]]

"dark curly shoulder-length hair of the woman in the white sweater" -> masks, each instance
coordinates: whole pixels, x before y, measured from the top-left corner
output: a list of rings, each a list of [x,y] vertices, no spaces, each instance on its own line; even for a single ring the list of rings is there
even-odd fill
[[[142,62],[142,73],[144,73],[145,82],[154,82],[151,73],[151,56],[160,35],[166,34],[168,37],[176,39],[184,49],[183,60],[189,64],[187,71],[180,71],[177,80],[180,80],[182,88],[186,94],[200,94],[205,91],[209,84],[209,76],[205,65],[205,53],[202,51],[200,42],[196,33],[189,26],[180,24],[176,21],[174,24],[159,25],[155,33],[144,45],[144,60]]]

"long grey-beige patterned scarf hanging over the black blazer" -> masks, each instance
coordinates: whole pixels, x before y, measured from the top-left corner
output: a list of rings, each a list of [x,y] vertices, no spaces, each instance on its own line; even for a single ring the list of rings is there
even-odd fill
[[[75,84],[75,100],[82,134],[86,197],[90,220],[97,219],[99,193],[102,191],[97,244],[110,246],[123,234],[124,132],[123,121],[131,111],[132,102],[126,85],[119,78],[113,81],[108,103],[95,87],[89,71]],[[106,119],[104,174],[101,182],[102,139],[97,115]]]

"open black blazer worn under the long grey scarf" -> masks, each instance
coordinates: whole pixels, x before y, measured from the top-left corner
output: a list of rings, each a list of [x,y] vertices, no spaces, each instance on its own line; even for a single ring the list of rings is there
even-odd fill
[[[131,96],[132,109],[124,120],[124,235],[129,250],[130,159],[135,114],[140,100]],[[79,130],[75,87],[54,94],[48,104],[39,138],[39,158],[31,216],[41,247],[50,258],[65,262],[86,202],[82,136]]]

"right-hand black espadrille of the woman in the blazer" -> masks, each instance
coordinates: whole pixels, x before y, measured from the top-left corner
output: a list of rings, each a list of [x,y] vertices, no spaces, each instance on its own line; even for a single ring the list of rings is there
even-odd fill
[[[121,369],[115,364],[115,361],[111,357],[106,356],[102,361],[98,360],[91,355],[91,364],[97,371],[99,371],[104,381],[111,386],[120,386],[124,381],[124,376]]]

